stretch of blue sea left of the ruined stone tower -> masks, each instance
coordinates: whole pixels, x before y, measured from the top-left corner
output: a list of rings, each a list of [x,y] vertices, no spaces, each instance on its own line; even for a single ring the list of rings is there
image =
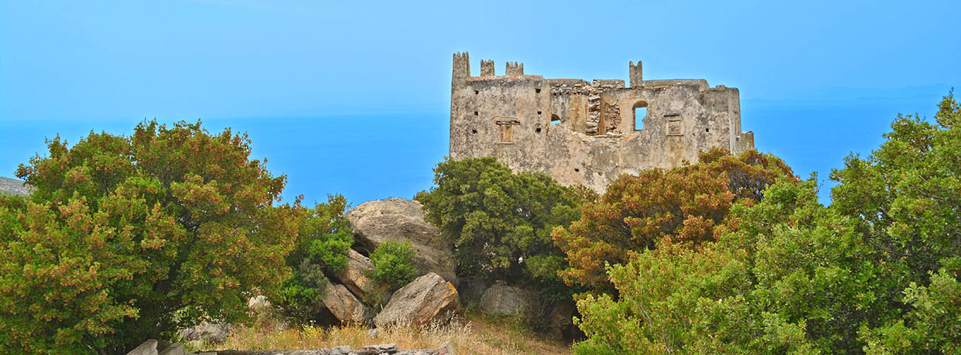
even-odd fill
[[[0,176],[12,178],[18,164],[44,154],[45,138],[59,133],[76,143],[90,130],[129,135],[142,119],[0,121]],[[429,189],[431,168],[448,152],[449,120],[447,112],[440,112],[213,118],[203,124],[210,131],[246,131],[254,157],[267,158],[271,173],[287,176],[285,201],[303,194],[312,204],[327,201],[328,194],[343,194],[357,205],[410,199]]]

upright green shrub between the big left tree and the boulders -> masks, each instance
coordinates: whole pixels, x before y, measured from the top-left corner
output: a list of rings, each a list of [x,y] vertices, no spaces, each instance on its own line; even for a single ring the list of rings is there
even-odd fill
[[[329,283],[325,272],[337,272],[347,265],[347,252],[354,244],[350,222],[344,216],[347,200],[341,195],[328,196],[327,203],[304,208],[293,251],[286,265],[293,271],[283,282],[278,305],[298,322],[317,318],[323,310],[321,298]]]

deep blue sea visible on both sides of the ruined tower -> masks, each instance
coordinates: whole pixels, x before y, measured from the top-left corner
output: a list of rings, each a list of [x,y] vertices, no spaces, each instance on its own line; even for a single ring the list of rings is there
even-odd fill
[[[932,118],[947,85],[861,93],[835,90],[804,99],[742,99],[742,129],[754,131],[758,150],[776,154],[801,178],[817,172],[822,202],[830,201],[831,169],[848,154],[870,154],[902,113]],[[0,176],[44,154],[44,139],[58,133],[75,143],[90,130],[130,134],[142,117],[129,120],[16,120],[0,118]],[[174,119],[158,117],[160,122]],[[195,120],[195,119],[194,119]],[[255,158],[267,158],[275,175],[287,176],[286,201],[326,201],[343,194],[354,205],[390,197],[410,199],[431,188],[431,168],[448,153],[449,115],[378,113],[316,117],[208,118],[210,131],[247,131]]]

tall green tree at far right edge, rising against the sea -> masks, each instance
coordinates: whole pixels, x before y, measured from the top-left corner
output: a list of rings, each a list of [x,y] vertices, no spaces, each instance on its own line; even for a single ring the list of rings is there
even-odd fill
[[[902,116],[887,141],[849,156],[831,178],[832,207],[855,220],[877,263],[897,267],[890,298],[905,315],[864,332],[876,354],[957,353],[961,349],[961,105],[953,90],[934,122]]]

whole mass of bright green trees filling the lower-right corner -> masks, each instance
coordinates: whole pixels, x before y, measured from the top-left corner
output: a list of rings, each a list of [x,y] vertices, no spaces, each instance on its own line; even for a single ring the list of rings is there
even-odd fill
[[[961,107],[899,116],[832,178],[785,179],[736,204],[716,242],[664,244],[582,296],[575,353],[952,354],[961,349]]]

